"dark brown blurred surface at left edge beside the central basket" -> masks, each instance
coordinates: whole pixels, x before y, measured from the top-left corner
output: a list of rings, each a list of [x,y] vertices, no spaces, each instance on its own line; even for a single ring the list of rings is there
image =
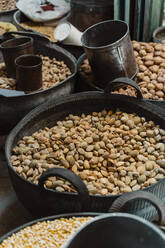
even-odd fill
[[[12,188],[3,151],[4,139],[0,136],[0,237],[33,219]]]

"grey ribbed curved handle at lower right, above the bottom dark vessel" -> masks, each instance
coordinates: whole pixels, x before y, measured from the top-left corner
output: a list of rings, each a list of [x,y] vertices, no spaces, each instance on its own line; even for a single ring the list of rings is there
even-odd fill
[[[154,194],[146,191],[137,191],[123,194],[118,197],[111,205],[109,213],[122,212],[127,203],[133,200],[144,200],[150,202],[158,212],[158,224],[165,225],[165,205]]]

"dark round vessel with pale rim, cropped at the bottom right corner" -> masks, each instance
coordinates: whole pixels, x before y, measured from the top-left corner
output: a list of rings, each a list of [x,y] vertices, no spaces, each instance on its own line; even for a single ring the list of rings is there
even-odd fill
[[[165,235],[153,224],[130,214],[94,218],[70,237],[64,248],[164,248]]]

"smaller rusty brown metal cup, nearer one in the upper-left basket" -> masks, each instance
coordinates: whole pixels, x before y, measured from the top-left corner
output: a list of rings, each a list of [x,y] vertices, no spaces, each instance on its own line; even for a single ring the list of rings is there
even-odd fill
[[[15,60],[16,89],[31,92],[42,88],[42,59],[38,55],[26,54]]]

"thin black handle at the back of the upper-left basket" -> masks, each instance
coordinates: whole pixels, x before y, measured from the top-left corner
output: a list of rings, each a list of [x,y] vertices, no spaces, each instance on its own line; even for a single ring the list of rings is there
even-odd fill
[[[10,31],[10,32],[5,32],[3,34],[3,37],[4,38],[7,38],[9,36],[12,36],[13,34],[16,34],[16,35],[21,35],[21,36],[30,36],[36,40],[41,40],[41,41],[44,41],[44,42],[50,42],[49,39],[46,37],[46,35],[42,35],[41,33],[39,32],[25,32],[25,31]]]

